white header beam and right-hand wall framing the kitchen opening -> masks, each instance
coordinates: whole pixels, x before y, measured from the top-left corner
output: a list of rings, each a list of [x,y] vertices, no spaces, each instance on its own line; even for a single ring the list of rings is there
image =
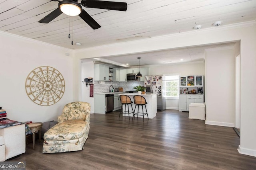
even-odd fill
[[[75,60],[142,53],[157,50],[174,49],[180,47],[192,47],[196,45],[208,45],[240,41],[241,49],[241,125],[239,152],[256,156],[256,95],[251,91],[251,84],[256,84],[256,23],[255,21],[242,23],[238,27],[222,25],[213,29],[193,30],[175,35],[165,35],[132,42],[117,43],[75,51]],[[129,48],[127,48],[129,47]],[[75,63],[76,64],[76,63]],[[75,67],[78,66],[75,65]],[[81,71],[81,70],[80,70]],[[79,71],[78,71],[79,72]],[[253,77],[253,78],[252,78]],[[79,76],[74,74],[75,81]],[[79,92],[74,98],[79,97]]]

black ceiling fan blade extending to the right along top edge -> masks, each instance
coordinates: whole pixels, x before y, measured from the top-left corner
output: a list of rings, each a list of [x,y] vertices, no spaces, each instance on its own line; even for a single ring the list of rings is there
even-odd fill
[[[82,0],[82,6],[88,8],[99,8],[106,10],[117,10],[117,11],[126,11],[127,4],[126,2],[112,2],[112,1],[102,1],[102,0]]]

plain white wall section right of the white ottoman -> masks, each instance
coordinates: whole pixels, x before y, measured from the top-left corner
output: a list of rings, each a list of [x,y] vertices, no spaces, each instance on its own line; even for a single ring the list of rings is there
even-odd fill
[[[235,125],[234,47],[206,49],[205,104],[208,125]]]

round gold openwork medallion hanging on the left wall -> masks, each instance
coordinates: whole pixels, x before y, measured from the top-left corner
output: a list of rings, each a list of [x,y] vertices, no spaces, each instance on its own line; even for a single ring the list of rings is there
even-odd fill
[[[40,66],[28,74],[25,88],[28,97],[34,103],[50,106],[62,98],[65,91],[65,81],[55,68]]]

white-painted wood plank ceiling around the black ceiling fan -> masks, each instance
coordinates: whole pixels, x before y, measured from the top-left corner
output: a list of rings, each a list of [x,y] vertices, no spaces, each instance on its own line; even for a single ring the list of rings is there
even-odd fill
[[[80,2],[81,0],[78,0]],[[38,21],[58,8],[50,0],[0,0],[0,31],[68,49],[82,49],[161,35],[255,21],[256,0],[112,0],[126,2],[126,12],[83,7],[101,28],[92,29],[79,16],[61,14],[50,23]],[[71,39],[68,34],[71,34]],[[82,45],[71,45],[71,41]]]

